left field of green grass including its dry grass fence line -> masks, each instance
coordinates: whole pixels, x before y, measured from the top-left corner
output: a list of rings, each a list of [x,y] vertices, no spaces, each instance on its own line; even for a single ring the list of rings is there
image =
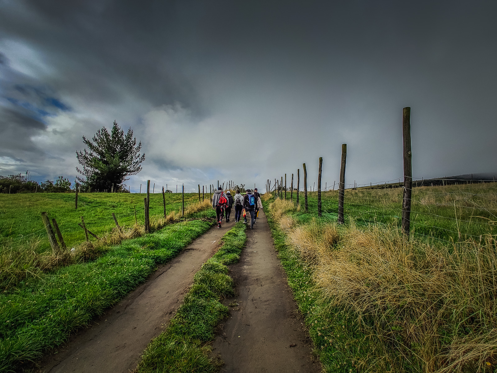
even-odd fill
[[[145,194],[136,193],[80,193],[76,210],[74,193],[0,194],[0,288],[61,266],[94,259],[110,245],[143,235],[144,197]],[[208,199],[198,203],[197,194],[185,194],[186,215],[191,217],[209,208]],[[56,218],[68,250],[52,251],[41,220],[42,211]],[[166,219],[162,194],[151,194],[152,231],[177,221],[180,211],[180,193],[166,194]],[[115,228],[112,213],[122,230]],[[78,225],[81,216],[100,240],[90,236],[91,244],[85,243],[84,230]],[[73,247],[75,250],[71,251]]]

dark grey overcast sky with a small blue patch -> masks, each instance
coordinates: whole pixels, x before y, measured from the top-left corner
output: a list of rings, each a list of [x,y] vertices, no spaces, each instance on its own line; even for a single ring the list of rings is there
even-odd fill
[[[0,175],[74,180],[82,136],[143,143],[126,184],[263,188],[497,170],[496,1],[0,0]],[[288,179],[289,180],[289,179]],[[289,181],[288,181],[289,183]]]

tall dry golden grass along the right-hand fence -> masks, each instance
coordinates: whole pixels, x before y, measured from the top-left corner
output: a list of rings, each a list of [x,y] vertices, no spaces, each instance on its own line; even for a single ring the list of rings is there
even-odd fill
[[[276,200],[270,209],[289,246],[313,269],[322,299],[350,312],[363,333],[386,346],[378,350],[385,356],[371,352],[369,363],[394,361],[388,356],[394,350],[406,359],[414,356],[423,372],[493,372],[497,246],[492,235],[452,244],[407,241],[397,226],[359,228],[316,219],[298,225],[287,215],[295,211],[291,202]]]

